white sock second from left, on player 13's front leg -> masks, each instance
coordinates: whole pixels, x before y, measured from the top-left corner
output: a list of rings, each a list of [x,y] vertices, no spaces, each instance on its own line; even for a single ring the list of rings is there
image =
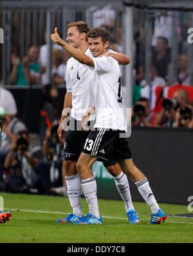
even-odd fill
[[[93,176],[92,178],[88,178],[87,180],[82,180],[81,185],[84,196],[89,205],[89,213],[99,219],[100,213],[98,210],[97,186],[95,177]]]

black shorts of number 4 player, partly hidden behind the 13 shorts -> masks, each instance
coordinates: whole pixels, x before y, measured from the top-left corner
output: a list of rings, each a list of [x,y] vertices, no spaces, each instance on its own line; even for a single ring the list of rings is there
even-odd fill
[[[80,154],[82,153],[83,146],[86,142],[87,137],[89,136],[90,131],[80,131],[80,123],[72,118],[70,128],[73,127],[73,131],[69,130],[66,132],[66,138],[64,141],[64,160],[77,162]],[[93,127],[94,124],[95,123],[90,123],[89,125]],[[102,158],[98,160],[100,162],[103,162],[105,167],[116,164],[116,161],[110,162]]]

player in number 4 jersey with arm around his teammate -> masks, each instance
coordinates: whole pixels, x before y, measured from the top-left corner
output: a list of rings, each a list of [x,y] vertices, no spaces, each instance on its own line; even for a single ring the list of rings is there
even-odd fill
[[[90,28],[87,23],[78,21],[68,25],[68,36],[66,41],[72,47],[78,48],[87,56],[92,57],[86,41],[86,34]],[[124,54],[109,52],[109,55],[116,58],[121,64],[126,65],[130,59]],[[67,63],[66,76],[66,96],[64,99],[64,111],[59,127],[59,136],[64,140],[64,168],[66,186],[68,189],[68,197],[73,213],[64,219],[59,219],[57,222],[75,222],[82,219],[81,206],[81,184],[77,173],[77,160],[80,156],[89,131],[82,131],[81,121],[84,112],[93,107],[95,97],[93,95],[93,78],[95,71],[88,66],[82,65],[76,59],[70,58]],[[65,133],[62,129],[62,123],[67,122],[69,109],[71,109],[70,129]],[[66,112],[65,112],[66,111]],[[94,120],[90,120],[91,127],[95,124]],[[120,166],[116,162],[109,162],[106,159],[102,160],[107,171],[115,179],[116,187],[120,196],[125,202],[125,211],[130,223],[140,222],[138,214],[134,210],[129,189],[127,176],[124,175]]]

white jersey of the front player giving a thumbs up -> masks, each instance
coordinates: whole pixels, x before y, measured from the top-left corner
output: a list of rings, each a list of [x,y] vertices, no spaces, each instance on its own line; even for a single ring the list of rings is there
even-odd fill
[[[118,61],[107,56],[92,57],[92,59],[95,63],[93,81],[96,107],[95,128],[127,131]]]

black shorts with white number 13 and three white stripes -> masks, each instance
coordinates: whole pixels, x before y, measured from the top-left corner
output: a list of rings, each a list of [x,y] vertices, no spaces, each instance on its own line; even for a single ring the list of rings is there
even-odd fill
[[[111,165],[121,159],[131,159],[131,151],[127,138],[120,138],[121,131],[106,130],[91,131],[87,136],[82,153],[96,156],[98,160]],[[111,166],[109,165],[109,166]]]

